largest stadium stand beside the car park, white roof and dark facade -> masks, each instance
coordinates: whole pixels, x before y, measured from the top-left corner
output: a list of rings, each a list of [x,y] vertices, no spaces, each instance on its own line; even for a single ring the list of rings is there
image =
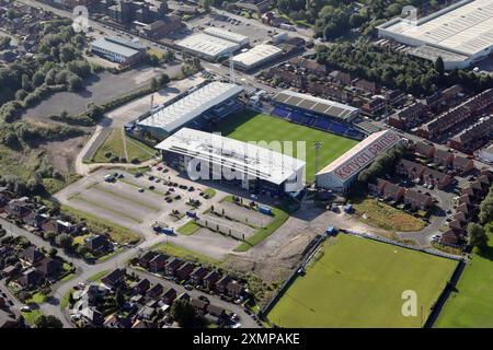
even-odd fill
[[[305,162],[250,142],[183,128],[156,145],[165,164],[196,179],[272,195],[303,189]]]

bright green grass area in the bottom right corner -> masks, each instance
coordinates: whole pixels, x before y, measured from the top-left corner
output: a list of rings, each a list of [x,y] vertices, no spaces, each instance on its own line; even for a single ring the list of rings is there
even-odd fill
[[[493,327],[493,223],[488,229],[489,247],[473,252],[435,327]]]

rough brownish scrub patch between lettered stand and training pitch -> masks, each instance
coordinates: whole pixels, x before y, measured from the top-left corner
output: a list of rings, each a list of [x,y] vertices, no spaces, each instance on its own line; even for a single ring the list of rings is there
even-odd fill
[[[376,199],[358,199],[353,205],[356,214],[366,214],[362,220],[371,226],[397,232],[415,232],[425,226],[423,220]]]

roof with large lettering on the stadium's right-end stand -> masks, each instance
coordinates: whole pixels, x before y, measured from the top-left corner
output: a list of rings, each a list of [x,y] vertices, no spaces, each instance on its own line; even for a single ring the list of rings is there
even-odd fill
[[[342,183],[351,179],[369,165],[375,158],[397,144],[401,138],[391,130],[371,133],[349,151],[322,168],[317,176],[331,174]]]

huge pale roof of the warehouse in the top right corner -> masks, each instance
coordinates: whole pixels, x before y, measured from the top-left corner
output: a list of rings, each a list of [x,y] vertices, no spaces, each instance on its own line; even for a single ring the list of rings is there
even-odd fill
[[[493,0],[466,0],[417,23],[402,19],[389,23],[381,28],[472,56],[493,45]]]

